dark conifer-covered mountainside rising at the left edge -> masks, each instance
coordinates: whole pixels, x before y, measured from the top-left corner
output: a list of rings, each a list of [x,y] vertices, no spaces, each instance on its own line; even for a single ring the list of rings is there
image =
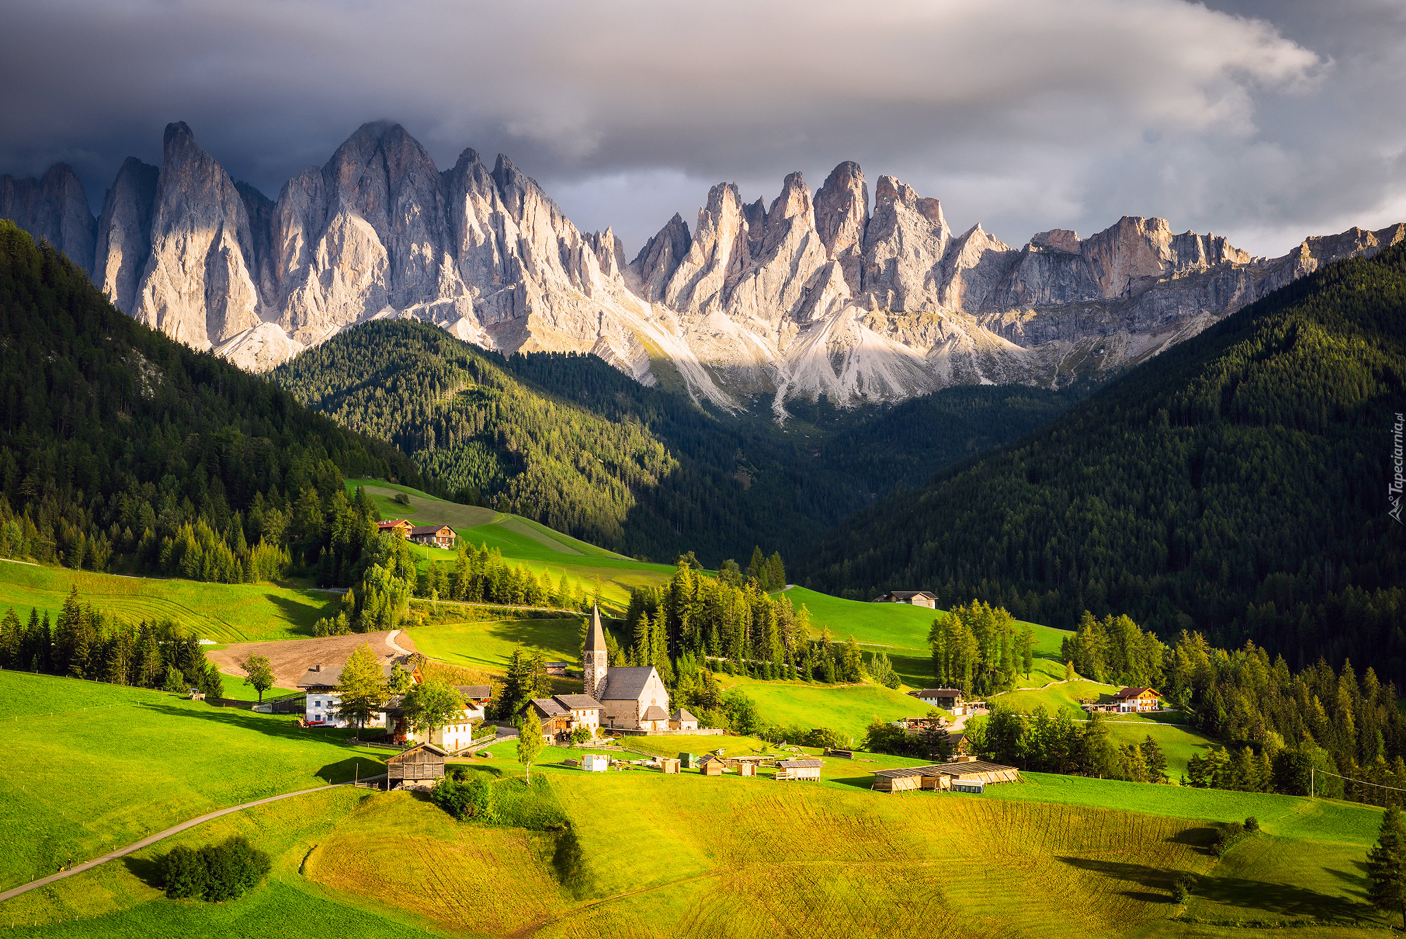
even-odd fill
[[[343,476],[432,486],[389,445],[124,315],[0,221],[0,556],[240,581],[346,580]],[[374,511],[374,508],[371,510]]]

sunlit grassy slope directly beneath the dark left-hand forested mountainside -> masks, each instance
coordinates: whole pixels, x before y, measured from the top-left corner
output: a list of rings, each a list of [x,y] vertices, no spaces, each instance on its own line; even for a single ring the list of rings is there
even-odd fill
[[[205,584],[0,563],[0,611],[14,607],[21,618],[32,607],[56,618],[73,587],[83,603],[129,622],[172,619],[218,642],[311,636],[330,597],[271,584]]]

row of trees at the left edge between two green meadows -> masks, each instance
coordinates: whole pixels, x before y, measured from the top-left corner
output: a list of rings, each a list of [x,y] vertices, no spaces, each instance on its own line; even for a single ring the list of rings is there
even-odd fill
[[[207,697],[224,697],[219,670],[194,635],[170,621],[132,625],[108,617],[79,603],[77,588],[69,591],[53,622],[37,608],[27,621],[14,608],[6,610],[0,669],[176,693],[200,688]]]

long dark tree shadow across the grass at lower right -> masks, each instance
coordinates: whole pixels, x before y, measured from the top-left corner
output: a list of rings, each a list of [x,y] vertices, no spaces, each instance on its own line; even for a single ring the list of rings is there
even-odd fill
[[[1139,887],[1157,890],[1122,891],[1125,897],[1135,900],[1173,902],[1171,883],[1182,871],[1161,870],[1146,864],[1130,864],[1112,860],[1092,860],[1088,857],[1060,857],[1071,867],[1091,870],[1115,880],[1123,880]],[[1216,874],[1201,874],[1195,877],[1191,888],[1192,895],[1233,907],[1244,911],[1258,911],[1284,916],[1286,919],[1336,919],[1358,921],[1372,918],[1371,907],[1350,900],[1334,897],[1305,887],[1292,884],[1274,884],[1263,880],[1247,880],[1243,877],[1219,877]]]

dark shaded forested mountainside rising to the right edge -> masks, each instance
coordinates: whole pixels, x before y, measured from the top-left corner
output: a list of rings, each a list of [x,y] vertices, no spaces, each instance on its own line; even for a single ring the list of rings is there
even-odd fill
[[[803,581],[976,595],[1066,628],[1126,612],[1400,683],[1403,338],[1406,246],[1334,263],[862,512]]]

